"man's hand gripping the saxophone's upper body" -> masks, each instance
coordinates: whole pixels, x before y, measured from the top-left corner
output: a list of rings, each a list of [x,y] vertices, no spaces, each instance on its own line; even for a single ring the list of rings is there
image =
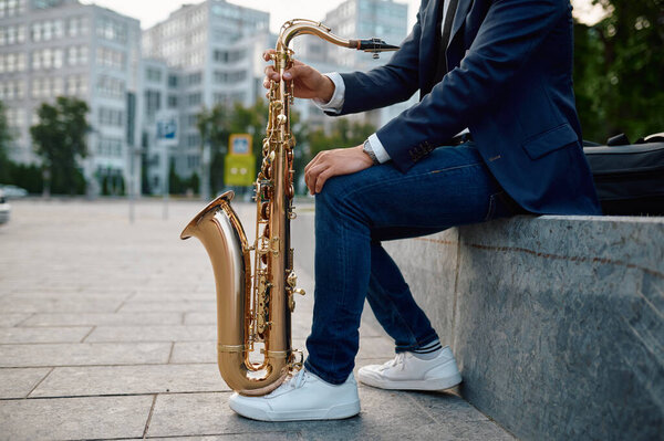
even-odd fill
[[[270,54],[272,53],[274,53],[273,49],[263,52],[263,60],[270,61]],[[292,67],[283,73],[283,78],[293,80],[294,94],[298,98],[319,98],[328,103],[334,93],[334,83],[332,83],[332,80],[298,60],[293,60]],[[270,88],[270,80],[276,82],[281,81],[279,73],[274,71],[272,64],[266,67],[264,88]]]

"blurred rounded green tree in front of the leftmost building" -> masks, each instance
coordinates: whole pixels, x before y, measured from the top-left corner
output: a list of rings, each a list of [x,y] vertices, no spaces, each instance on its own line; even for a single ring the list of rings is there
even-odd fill
[[[46,186],[59,182],[70,195],[81,187],[77,160],[87,155],[87,111],[85,102],[59,96],[54,105],[43,103],[39,107],[39,123],[30,127],[35,153],[42,159],[44,175],[50,177]]]

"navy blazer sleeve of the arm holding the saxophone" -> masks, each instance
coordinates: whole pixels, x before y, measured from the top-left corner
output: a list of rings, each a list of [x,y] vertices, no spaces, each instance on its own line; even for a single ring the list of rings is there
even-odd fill
[[[426,1],[422,3],[424,7]],[[421,13],[422,9],[417,12],[417,21],[413,30],[387,64],[369,72],[341,74],[345,84],[343,107],[340,113],[329,113],[329,115],[371,111],[401,103],[413,96],[419,87]]]

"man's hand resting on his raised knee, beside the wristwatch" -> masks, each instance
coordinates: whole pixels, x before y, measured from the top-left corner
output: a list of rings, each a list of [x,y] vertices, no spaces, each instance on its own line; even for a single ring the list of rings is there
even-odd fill
[[[320,193],[325,181],[334,176],[351,175],[373,166],[362,145],[319,153],[304,167],[304,181],[311,195]]]

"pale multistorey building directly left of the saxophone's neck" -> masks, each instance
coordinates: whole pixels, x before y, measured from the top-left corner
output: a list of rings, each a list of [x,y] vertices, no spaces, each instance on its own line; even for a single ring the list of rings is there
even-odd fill
[[[250,106],[263,96],[260,55],[274,45],[269,17],[224,0],[207,0],[185,4],[144,31],[145,55],[164,60],[179,82],[177,94],[166,103],[168,107],[177,103],[173,107],[179,118],[178,145],[169,156],[179,176],[201,175],[203,145],[196,119],[203,108],[236,102]],[[149,139],[155,122],[146,118],[143,132]],[[163,150],[158,143],[147,148]]]

